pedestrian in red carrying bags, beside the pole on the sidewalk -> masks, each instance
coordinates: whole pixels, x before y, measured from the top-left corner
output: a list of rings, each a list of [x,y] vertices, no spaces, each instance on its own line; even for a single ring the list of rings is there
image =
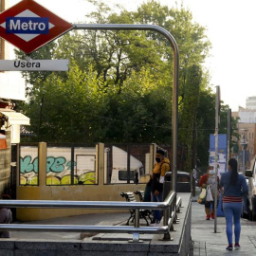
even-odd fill
[[[215,172],[213,170],[213,166],[209,166],[207,169],[207,174],[204,174],[201,176],[199,180],[199,187],[202,187],[203,189],[208,189],[211,192],[212,195],[212,201],[206,201],[205,204],[205,211],[206,211],[206,220],[214,219],[214,203],[215,203],[215,186],[217,182],[217,206],[219,203],[219,177],[215,175]]]

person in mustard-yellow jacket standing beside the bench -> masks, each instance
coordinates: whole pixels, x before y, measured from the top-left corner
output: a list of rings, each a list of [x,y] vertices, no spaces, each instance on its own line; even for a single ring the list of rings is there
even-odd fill
[[[155,166],[151,174],[151,201],[163,201],[163,183],[164,176],[170,171],[170,161],[165,157],[163,150],[157,150],[155,153]],[[162,210],[154,210],[154,217],[151,226],[159,226],[162,218]]]

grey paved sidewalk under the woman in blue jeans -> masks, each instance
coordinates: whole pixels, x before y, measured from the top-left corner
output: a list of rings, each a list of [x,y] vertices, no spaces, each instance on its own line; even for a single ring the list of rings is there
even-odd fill
[[[256,255],[256,222],[241,219],[241,248],[226,250],[228,240],[226,235],[225,217],[217,218],[217,229],[214,232],[214,220],[205,219],[204,206],[196,202],[200,192],[197,188],[196,196],[192,197],[192,245],[193,256],[216,256],[216,255]],[[191,256],[192,256],[191,255]]]

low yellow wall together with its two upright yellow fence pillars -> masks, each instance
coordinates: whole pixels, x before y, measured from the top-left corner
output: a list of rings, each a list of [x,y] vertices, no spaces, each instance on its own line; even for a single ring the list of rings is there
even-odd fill
[[[121,192],[144,190],[145,184],[103,184],[104,144],[99,143],[97,145],[97,153],[96,166],[99,174],[98,185],[46,186],[46,143],[39,143],[39,186],[18,186],[17,200],[125,201],[125,199],[120,196]],[[19,180],[18,176],[17,180]],[[109,212],[111,210],[26,208],[17,209],[17,219],[20,221],[44,220],[87,213],[97,213],[99,211]],[[117,210],[114,212],[117,212]]]

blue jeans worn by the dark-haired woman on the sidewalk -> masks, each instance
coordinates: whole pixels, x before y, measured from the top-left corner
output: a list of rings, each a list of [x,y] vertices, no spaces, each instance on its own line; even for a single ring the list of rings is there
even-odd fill
[[[234,221],[235,243],[239,243],[241,233],[242,203],[223,203],[223,211],[226,218],[226,233],[229,244],[232,244],[232,226]]]

